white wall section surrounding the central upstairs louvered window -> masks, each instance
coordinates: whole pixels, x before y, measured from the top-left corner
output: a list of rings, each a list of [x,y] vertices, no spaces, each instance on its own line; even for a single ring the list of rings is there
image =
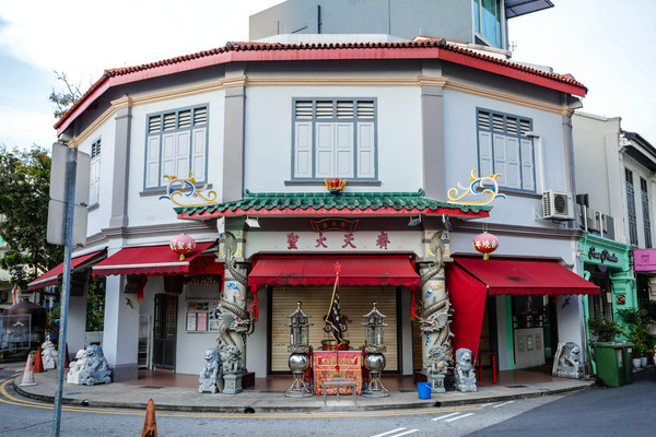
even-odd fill
[[[316,185],[284,185],[292,178],[294,97],[376,97],[380,187],[352,190],[415,192],[422,187],[419,87],[256,86],[246,93],[245,188],[251,192],[325,191]]]

